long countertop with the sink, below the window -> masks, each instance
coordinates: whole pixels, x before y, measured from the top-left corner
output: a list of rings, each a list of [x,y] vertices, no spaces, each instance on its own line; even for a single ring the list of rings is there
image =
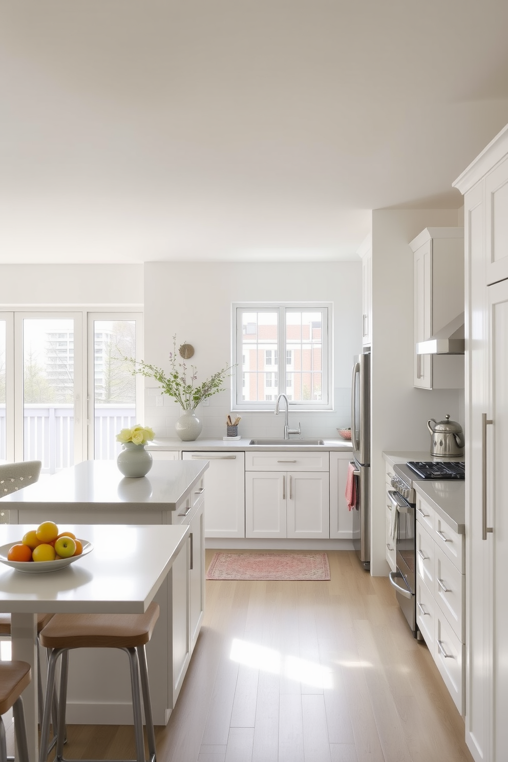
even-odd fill
[[[160,437],[150,442],[147,450],[192,450],[193,452],[202,452],[206,450],[338,450],[351,452],[353,449],[351,443],[345,439],[324,439],[323,437],[308,437],[309,439],[323,439],[324,444],[296,444],[298,437],[291,437],[292,444],[288,445],[259,445],[249,444],[251,439],[267,439],[268,437],[245,437],[244,439],[222,440],[222,439],[196,439],[193,442],[182,442],[180,439],[169,439]],[[282,438],[282,437],[281,437]]]

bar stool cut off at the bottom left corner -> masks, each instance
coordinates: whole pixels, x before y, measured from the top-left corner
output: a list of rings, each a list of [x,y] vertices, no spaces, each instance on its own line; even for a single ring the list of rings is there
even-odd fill
[[[27,664],[26,661],[0,662],[0,762],[7,762],[8,760],[2,715],[9,709],[12,709],[14,716],[14,735],[18,746],[19,762],[30,762],[27,724],[24,720],[21,693],[30,684],[31,679],[30,664]]]

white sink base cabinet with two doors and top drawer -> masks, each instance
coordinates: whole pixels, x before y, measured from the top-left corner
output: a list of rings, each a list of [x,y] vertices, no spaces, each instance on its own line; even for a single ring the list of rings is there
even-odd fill
[[[330,536],[327,452],[247,452],[245,468],[245,536]]]

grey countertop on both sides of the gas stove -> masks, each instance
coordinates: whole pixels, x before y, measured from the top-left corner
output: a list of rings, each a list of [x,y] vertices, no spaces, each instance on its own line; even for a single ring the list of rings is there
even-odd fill
[[[423,460],[443,463],[442,458],[433,458],[428,452],[398,452],[383,453],[385,462],[390,466],[395,463],[407,463],[408,460]],[[464,460],[464,458],[449,458],[448,460]],[[414,480],[414,489],[423,500],[426,500],[434,510],[449,523],[458,534],[465,533],[465,482],[454,482],[443,479],[440,482],[430,480]]]

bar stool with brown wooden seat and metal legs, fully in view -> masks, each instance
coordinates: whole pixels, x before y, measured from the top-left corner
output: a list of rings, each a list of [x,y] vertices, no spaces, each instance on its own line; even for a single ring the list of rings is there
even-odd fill
[[[149,605],[144,614],[55,614],[50,622],[41,630],[40,644],[52,650],[50,651],[48,661],[46,701],[44,703],[43,724],[40,730],[40,762],[45,762],[46,760],[46,753],[43,750],[48,745],[50,703],[55,687],[56,663],[60,657],[62,657],[62,669],[60,674],[56,760],[58,762],[81,762],[81,760],[64,760],[63,757],[63,728],[65,728],[69,650],[72,648],[120,648],[127,653],[129,656],[130,684],[133,696],[136,762],[146,762],[142,704],[145,709],[146,735],[149,747],[148,762],[155,762],[155,731],[145,645],[152,637],[158,615],[159,607],[155,602]],[[140,681],[141,690],[139,687]],[[100,760],[88,760],[88,762],[100,762]],[[122,760],[122,762],[134,762],[134,760]]]

